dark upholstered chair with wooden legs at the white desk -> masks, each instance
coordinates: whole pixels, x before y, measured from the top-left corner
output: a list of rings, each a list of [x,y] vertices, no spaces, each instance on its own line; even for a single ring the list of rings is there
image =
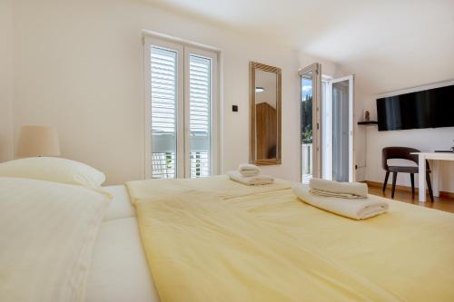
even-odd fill
[[[414,174],[418,173],[419,168],[410,167],[410,166],[389,166],[388,160],[390,159],[400,159],[413,161],[416,164],[419,164],[418,155],[411,154],[411,152],[420,152],[418,149],[408,148],[408,147],[386,147],[383,148],[381,156],[381,165],[384,170],[386,170],[385,181],[383,182],[383,191],[386,190],[386,185],[388,184],[388,178],[390,177],[390,172],[392,172],[392,193],[391,198],[394,198],[394,191],[396,190],[396,180],[398,172],[401,173],[410,173],[411,180],[411,194],[415,194],[415,177]],[[430,168],[429,161],[426,161],[426,181],[429,188],[430,200],[433,202],[433,191],[432,185],[430,184]],[[424,177],[419,175],[419,177]]]

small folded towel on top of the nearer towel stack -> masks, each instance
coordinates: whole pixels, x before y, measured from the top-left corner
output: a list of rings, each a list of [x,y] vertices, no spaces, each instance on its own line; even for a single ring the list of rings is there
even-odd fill
[[[312,194],[344,199],[368,197],[368,185],[361,182],[338,182],[331,180],[311,179],[309,189]]]

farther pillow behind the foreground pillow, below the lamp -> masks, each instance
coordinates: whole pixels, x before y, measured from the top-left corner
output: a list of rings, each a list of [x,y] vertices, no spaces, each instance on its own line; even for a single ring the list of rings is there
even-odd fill
[[[31,157],[0,163],[0,177],[47,180],[87,188],[98,188],[105,181],[100,170],[79,161],[55,157]]]

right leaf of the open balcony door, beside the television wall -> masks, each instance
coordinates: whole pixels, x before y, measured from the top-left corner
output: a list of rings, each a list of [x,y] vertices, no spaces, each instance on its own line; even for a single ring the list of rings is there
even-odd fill
[[[327,82],[323,98],[322,178],[354,181],[353,75]]]

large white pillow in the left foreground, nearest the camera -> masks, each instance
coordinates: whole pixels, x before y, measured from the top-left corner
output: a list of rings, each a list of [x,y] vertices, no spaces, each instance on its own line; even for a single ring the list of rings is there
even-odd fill
[[[82,186],[0,177],[0,301],[84,301],[108,205]]]

